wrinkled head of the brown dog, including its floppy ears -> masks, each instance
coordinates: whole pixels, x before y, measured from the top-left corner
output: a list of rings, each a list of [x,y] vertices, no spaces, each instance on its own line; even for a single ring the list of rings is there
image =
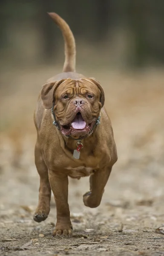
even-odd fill
[[[52,108],[63,135],[89,134],[104,105],[104,90],[95,79],[63,79],[43,85],[43,106]]]

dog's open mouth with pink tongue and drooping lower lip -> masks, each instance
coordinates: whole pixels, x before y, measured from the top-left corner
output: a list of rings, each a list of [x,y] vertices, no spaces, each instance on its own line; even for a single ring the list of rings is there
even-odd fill
[[[88,134],[92,129],[92,123],[87,124],[83,119],[83,116],[78,112],[75,118],[67,125],[61,125],[61,132],[64,135],[83,135]]]

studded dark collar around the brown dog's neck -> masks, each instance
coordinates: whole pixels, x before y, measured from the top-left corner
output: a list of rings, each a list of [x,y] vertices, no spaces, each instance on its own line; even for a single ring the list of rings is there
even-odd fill
[[[58,123],[58,121],[56,120],[56,116],[55,116],[55,112],[54,112],[54,106],[55,106],[55,103],[53,103],[53,106],[52,106],[52,109],[51,109],[51,112],[52,112],[52,115],[54,116],[54,121],[53,121],[53,125],[55,125],[55,127],[61,131],[61,128],[60,128],[60,125]],[[98,116],[98,119],[95,121],[95,124],[93,125],[91,131],[89,132],[89,134],[86,134],[85,136],[83,137],[79,137],[78,139],[75,139],[75,138],[72,138],[70,135],[64,135],[66,138],[69,138],[71,140],[78,140],[78,141],[81,141],[83,139],[85,139],[86,137],[90,136],[92,133],[93,133],[93,130],[96,128],[96,126],[98,126],[100,124],[100,117],[101,116]],[[63,135],[63,134],[62,134]]]

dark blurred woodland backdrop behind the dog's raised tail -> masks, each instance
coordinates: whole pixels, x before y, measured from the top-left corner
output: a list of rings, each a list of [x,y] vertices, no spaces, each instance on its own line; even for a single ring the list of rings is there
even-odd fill
[[[57,12],[69,23],[77,42],[78,65],[164,64],[162,0],[2,0],[0,12],[1,61],[8,69],[63,64],[63,39],[46,12]]]

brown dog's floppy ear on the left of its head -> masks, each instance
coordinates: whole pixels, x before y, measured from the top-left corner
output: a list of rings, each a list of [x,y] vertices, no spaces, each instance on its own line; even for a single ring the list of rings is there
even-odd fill
[[[58,86],[64,81],[65,79],[62,79],[60,81],[55,82],[49,82],[42,86],[40,95],[43,103],[43,107],[46,109],[52,108],[53,105],[53,96],[55,94],[55,90],[58,88]]]

